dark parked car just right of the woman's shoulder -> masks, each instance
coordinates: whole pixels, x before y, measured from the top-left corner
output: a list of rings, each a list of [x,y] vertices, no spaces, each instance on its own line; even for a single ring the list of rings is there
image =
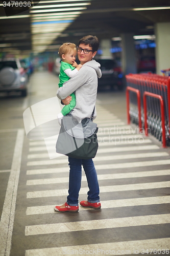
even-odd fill
[[[118,62],[112,57],[95,57],[101,64],[102,77],[98,81],[98,90],[109,86],[114,89],[123,90],[123,72]]]

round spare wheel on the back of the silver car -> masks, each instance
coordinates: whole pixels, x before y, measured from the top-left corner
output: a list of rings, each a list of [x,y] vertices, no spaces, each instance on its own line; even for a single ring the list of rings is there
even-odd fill
[[[16,74],[13,68],[4,68],[0,71],[0,81],[4,86],[9,86],[15,81]]]

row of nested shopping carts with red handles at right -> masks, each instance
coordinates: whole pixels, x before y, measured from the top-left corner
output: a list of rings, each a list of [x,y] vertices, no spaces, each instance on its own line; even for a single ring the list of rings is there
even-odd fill
[[[140,105],[141,105],[141,117],[139,115],[138,98],[134,91],[129,92],[129,115],[131,122],[139,124],[141,118],[141,126],[148,126],[148,131],[154,135],[159,141],[162,141],[162,115],[164,115],[164,127],[165,131],[165,143],[166,146],[170,145],[170,77],[161,76],[152,73],[146,74],[129,74],[126,75],[128,88],[137,89],[140,92]],[[149,93],[144,93],[149,92]],[[147,125],[144,122],[144,108],[143,99],[147,94]],[[154,95],[160,95],[163,100],[164,113],[162,113],[160,99],[155,98]]]

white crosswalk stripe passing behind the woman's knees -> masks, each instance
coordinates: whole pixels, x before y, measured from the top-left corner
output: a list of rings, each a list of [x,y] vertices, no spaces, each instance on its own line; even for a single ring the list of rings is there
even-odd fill
[[[154,171],[150,170],[148,172],[137,172],[137,173],[135,172],[135,173],[118,173],[118,174],[98,174],[98,180],[129,179],[129,178],[164,176],[164,175],[170,175],[170,169],[154,170]],[[86,181],[85,175],[82,175],[82,181]],[[28,180],[27,185],[30,186],[30,185],[42,185],[42,184],[56,184],[56,183],[65,183],[65,182],[68,182],[68,177]]]

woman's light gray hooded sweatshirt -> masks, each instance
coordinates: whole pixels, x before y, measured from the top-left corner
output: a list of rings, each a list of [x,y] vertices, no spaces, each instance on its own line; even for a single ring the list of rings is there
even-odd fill
[[[96,101],[98,77],[101,76],[100,63],[90,60],[74,77],[63,83],[63,87],[58,89],[57,97],[59,99],[65,99],[75,92],[76,106],[72,110],[72,116],[81,120],[86,117],[91,118]]]

